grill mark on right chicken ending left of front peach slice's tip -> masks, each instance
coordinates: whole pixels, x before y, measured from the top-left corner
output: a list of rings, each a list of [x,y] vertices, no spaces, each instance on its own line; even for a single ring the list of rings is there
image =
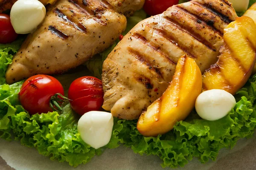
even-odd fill
[[[154,49],[154,51],[156,51],[158,54],[160,54],[161,56],[163,56],[168,62],[170,62],[170,64],[172,65],[176,65],[177,63],[175,61],[173,61],[168,54],[165,53],[165,51],[163,51],[163,49],[160,49],[159,46],[156,46],[152,43],[151,40],[147,40],[145,37],[143,37],[142,35],[135,33],[132,35],[133,38],[136,38],[137,40],[142,41],[145,45],[147,45],[148,47]]]

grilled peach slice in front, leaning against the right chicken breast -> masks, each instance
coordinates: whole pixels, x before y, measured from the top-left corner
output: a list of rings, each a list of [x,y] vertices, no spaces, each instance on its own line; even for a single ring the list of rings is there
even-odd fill
[[[184,120],[192,111],[201,88],[198,65],[192,58],[181,57],[169,87],[142,113],[137,129],[143,136],[157,136],[172,130],[177,121]]]

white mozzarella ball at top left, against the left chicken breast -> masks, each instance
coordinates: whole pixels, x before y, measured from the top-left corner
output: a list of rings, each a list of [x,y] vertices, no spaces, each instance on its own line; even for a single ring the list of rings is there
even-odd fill
[[[12,6],[10,18],[17,34],[34,31],[44,20],[46,9],[38,0],[17,0]]]

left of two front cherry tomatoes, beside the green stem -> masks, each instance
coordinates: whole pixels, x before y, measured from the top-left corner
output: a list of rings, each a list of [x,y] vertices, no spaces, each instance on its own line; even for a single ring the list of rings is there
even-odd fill
[[[23,83],[19,99],[29,114],[48,113],[52,111],[50,99],[57,93],[64,95],[64,89],[57,79],[47,75],[35,75]]]

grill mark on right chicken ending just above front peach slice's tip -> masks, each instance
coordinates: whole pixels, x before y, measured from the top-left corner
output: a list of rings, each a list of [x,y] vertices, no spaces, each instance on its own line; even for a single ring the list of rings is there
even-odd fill
[[[173,37],[172,34],[166,33],[164,29],[155,29],[155,31],[158,35],[160,35],[161,37],[165,38],[166,40],[177,46],[177,48],[180,48],[180,50],[184,51],[184,53],[186,53],[189,57],[197,58],[194,54],[190,52],[193,51],[193,49],[188,48],[186,45],[183,45],[182,43],[177,43],[175,41],[175,37]]]

